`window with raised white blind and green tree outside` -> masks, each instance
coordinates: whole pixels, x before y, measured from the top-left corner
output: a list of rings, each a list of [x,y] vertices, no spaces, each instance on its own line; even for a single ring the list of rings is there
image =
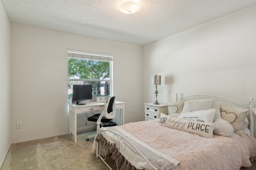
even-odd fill
[[[68,49],[68,100],[73,84],[92,84],[92,96],[112,95],[112,55]]]

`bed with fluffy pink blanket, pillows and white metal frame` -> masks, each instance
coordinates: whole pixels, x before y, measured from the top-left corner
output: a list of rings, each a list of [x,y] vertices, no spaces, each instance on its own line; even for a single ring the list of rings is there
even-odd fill
[[[112,154],[123,170],[239,170],[256,156],[254,115],[254,98],[244,103],[176,94],[168,115],[159,119],[102,128],[97,123],[93,150],[107,166],[105,158]]]

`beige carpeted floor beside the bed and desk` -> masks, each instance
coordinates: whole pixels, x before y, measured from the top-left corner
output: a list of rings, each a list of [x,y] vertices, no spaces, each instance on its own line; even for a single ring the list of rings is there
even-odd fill
[[[94,133],[79,132],[77,143],[72,135],[62,135],[12,144],[1,170],[107,170],[102,160],[92,154],[93,138],[86,141]],[[111,156],[106,162],[116,170]],[[256,170],[256,161],[252,164],[241,170]]]

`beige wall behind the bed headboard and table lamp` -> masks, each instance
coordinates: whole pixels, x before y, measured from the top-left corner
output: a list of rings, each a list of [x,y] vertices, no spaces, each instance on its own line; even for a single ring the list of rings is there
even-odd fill
[[[162,76],[158,102],[176,93],[256,100],[255,18],[256,5],[144,46],[143,102],[155,100],[154,74]]]

